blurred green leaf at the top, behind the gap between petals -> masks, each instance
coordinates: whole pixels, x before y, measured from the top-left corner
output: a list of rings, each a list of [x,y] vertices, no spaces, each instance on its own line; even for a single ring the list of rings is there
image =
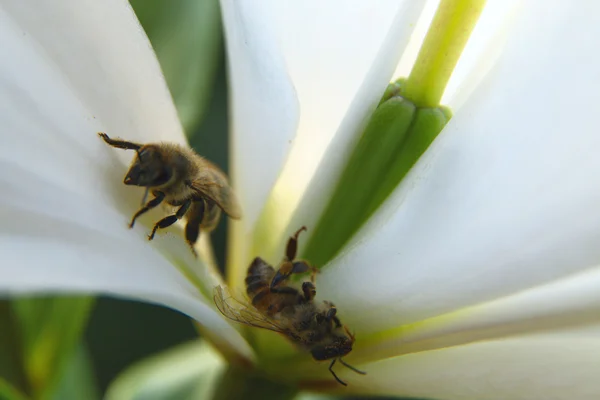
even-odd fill
[[[210,100],[222,49],[218,0],[132,0],[190,134]]]

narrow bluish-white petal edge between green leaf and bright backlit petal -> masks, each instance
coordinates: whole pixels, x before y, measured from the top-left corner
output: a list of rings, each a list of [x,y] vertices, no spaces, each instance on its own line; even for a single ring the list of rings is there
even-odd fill
[[[298,102],[261,2],[222,0],[232,105],[232,178],[252,227],[296,133]]]

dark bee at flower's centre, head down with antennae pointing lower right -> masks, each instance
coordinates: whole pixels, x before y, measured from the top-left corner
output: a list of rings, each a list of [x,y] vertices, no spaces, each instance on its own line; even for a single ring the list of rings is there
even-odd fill
[[[306,230],[300,228],[288,241],[285,258],[276,271],[260,257],[256,257],[248,268],[246,293],[251,305],[233,299],[217,286],[214,301],[221,313],[234,321],[268,329],[287,337],[304,349],[317,361],[331,360],[329,372],[335,380],[347,386],[333,371],[339,360],[352,371],[365,374],[347,364],[342,357],[352,351],[354,335],[336,316],[337,309],[329,301],[317,303],[314,276],[318,271],[306,261],[295,260],[298,235]],[[312,272],[311,282],[304,282],[302,289],[289,286],[292,274]]]

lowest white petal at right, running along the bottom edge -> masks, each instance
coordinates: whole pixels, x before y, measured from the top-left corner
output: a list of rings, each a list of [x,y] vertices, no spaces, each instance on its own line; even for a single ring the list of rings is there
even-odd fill
[[[600,339],[562,332],[472,343],[338,368],[348,388],[369,395],[444,400],[592,400],[600,397]]]

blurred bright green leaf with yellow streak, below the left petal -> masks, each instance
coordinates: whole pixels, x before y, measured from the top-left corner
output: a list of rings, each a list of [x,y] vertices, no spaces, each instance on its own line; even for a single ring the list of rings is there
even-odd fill
[[[23,366],[35,398],[48,398],[79,346],[93,297],[17,298]]]

